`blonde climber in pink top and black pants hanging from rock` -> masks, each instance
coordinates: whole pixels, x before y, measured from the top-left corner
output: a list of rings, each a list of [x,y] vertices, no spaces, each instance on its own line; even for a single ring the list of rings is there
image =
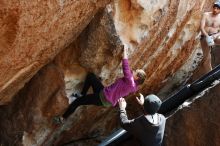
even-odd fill
[[[128,64],[127,48],[124,48],[122,69],[124,76],[117,79],[110,86],[104,87],[101,81],[93,73],[86,77],[81,94],[73,94],[76,97],[66,112],[60,117],[62,123],[80,105],[115,106],[120,97],[125,97],[138,90],[138,86],[144,83],[146,74],[143,70],[137,69],[134,74]],[[87,94],[88,89],[93,88],[93,94]]]

